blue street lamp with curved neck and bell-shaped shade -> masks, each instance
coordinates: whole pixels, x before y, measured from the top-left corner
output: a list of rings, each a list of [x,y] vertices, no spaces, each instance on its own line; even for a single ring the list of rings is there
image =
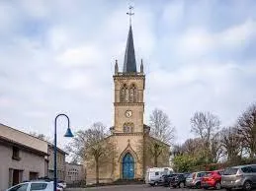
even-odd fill
[[[59,116],[64,116],[67,118],[67,130],[64,135],[64,137],[74,137],[69,126],[69,118],[66,114],[58,114],[55,117],[55,129],[54,129],[54,186],[53,186],[53,191],[57,191],[57,133],[56,133],[56,127],[57,127],[57,118]]]

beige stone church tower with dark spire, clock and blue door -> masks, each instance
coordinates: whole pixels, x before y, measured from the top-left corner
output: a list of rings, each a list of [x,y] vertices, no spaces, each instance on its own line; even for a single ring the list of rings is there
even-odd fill
[[[144,88],[145,75],[141,61],[140,71],[136,69],[132,29],[129,26],[128,42],[123,72],[115,66],[115,124],[112,127],[119,159],[115,179],[139,179],[143,177]]]

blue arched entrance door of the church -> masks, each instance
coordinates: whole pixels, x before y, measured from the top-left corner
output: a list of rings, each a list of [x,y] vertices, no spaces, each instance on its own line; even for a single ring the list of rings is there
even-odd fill
[[[130,154],[123,158],[123,179],[134,178],[134,159]]]

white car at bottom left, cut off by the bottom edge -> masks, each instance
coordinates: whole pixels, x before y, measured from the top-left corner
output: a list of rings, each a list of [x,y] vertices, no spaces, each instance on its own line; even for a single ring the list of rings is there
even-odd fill
[[[6,191],[52,191],[53,182],[45,181],[30,181],[17,184]],[[63,191],[62,188],[57,187],[56,191]]]

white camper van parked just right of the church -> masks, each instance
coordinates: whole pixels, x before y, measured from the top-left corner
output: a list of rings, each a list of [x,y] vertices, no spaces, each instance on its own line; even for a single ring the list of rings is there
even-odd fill
[[[145,183],[151,186],[157,186],[162,183],[162,175],[169,175],[173,173],[171,167],[152,167],[146,170]]]

